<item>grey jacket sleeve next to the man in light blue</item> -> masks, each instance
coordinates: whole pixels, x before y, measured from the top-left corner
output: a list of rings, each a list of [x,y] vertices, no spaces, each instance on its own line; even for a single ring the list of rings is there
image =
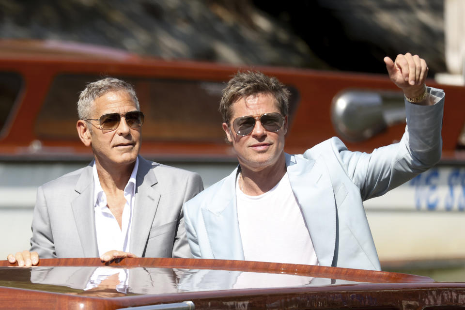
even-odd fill
[[[183,204],[203,190],[202,178],[197,173],[192,173],[187,178],[186,188],[184,191]],[[184,212],[181,208],[178,227],[174,238],[172,257],[192,258],[192,254],[187,242],[186,227],[184,222]]]

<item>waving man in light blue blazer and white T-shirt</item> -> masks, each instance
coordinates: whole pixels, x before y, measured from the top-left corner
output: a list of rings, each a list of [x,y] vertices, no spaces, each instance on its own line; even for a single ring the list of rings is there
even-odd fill
[[[229,81],[220,111],[239,166],[183,206],[194,257],[380,270],[362,202],[439,160],[444,105],[418,55],[384,61],[403,90],[407,126],[399,143],[371,154],[338,138],[284,153],[286,88],[258,72]]]

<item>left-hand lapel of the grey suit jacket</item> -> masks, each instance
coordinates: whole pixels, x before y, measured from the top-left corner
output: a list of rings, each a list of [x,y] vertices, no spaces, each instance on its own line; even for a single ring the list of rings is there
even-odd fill
[[[98,257],[93,201],[94,182],[91,164],[85,167],[79,176],[75,187],[77,196],[71,201],[84,257]],[[74,245],[70,245],[70,247],[74,247]]]

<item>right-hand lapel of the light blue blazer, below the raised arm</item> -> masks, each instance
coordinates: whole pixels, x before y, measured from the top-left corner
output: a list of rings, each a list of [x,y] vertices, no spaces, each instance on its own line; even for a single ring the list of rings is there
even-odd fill
[[[331,266],[336,247],[336,203],[325,161],[286,154],[286,166],[318,262]]]

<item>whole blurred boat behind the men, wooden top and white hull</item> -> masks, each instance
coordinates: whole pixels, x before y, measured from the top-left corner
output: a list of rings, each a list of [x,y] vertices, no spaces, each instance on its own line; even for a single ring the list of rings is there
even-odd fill
[[[75,125],[86,83],[104,75],[131,82],[146,114],[141,154],[197,171],[209,186],[237,164],[217,112],[220,91],[237,70],[248,69],[74,43],[0,40],[0,233],[15,236],[3,241],[0,257],[29,247],[37,186],[92,158]],[[402,136],[402,93],[386,75],[253,69],[276,76],[292,92],[288,153],[332,136],[351,150],[371,152]],[[465,262],[465,87],[427,84],[446,92],[441,162],[365,202],[384,268]]]

